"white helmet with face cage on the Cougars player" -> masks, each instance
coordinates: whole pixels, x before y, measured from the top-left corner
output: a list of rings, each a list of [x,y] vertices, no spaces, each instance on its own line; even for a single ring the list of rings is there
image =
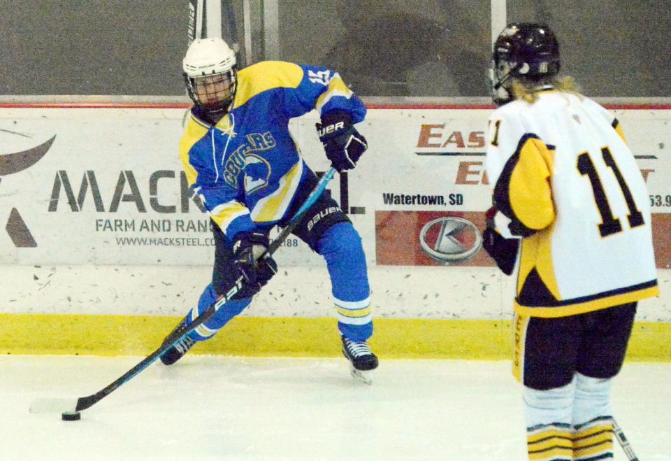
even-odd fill
[[[236,94],[236,53],[222,38],[194,40],[182,60],[189,97],[210,112],[228,111]]]

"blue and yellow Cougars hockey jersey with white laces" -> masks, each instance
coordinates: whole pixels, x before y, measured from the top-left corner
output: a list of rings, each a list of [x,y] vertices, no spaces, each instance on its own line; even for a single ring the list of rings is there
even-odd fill
[[[329,69],[266,61],[238,72],[231,111],[212,126],[189,114],[180,157],[189,186],[222,231],[233,238],[283,218],[308,173],[289,120],[317,109],[347,111],[352,122],[366,106]]]

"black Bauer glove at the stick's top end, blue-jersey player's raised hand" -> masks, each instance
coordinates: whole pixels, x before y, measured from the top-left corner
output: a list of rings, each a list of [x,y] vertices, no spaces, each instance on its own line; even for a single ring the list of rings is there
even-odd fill
[[[338,170],[349,170],[368,148],[366,138],[356,131],[352,125],[352,115],[345,111],[331,111],[322,116],[322,123],[317,123],[319,141],[322,141],[326,157],[331,166]]]

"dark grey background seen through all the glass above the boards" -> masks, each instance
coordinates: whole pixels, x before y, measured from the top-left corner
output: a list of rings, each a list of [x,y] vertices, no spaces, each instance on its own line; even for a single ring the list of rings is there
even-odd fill
[[[232,3],[244,43],[242,1]],[[670,0],[507,4],[509,22],[550,24],[563,73],[586,94],[671,95]],[[329,66],[365,96],[484,97],[489,8],[489,0],[280,0],[280,59]],[[186,0],[2,0],[0,93],[182,96],[187,22]],[[233,39],[226,28],[224,38]]]

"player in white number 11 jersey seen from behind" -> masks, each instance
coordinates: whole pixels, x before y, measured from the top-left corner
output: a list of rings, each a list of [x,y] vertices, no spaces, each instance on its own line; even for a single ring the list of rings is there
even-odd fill
[[[618,121],[559,78],[545,25],[493,46],[484,246],[517,268],[514,375],[532,460],[612,458],[612,378],[637,302],[658,295],[646,185]]]

